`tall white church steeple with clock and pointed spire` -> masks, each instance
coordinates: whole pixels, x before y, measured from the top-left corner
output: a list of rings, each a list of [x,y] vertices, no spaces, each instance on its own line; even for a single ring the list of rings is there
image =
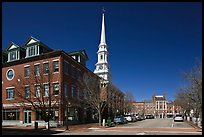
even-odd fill
[[[109,64],[108,64],[108,46],[106,44],[106,37],[105,37],[105,14],[103,10],[102,14],[102,27],[101,27],[101,40],[98,46],[98,62],[96,63],[96,68],[94,73],[99,77],[103,78],[104,84],[110,83],[111,81],[111,74],[109,72]]]

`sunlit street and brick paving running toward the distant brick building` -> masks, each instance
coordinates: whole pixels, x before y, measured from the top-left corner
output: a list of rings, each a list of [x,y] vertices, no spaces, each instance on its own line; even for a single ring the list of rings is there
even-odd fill
[[[202,131],[186,122],[174,122],[172,118],[146,119],[109,128],[92,128],[86,132],[64,132],[66,135],[202,135]]]

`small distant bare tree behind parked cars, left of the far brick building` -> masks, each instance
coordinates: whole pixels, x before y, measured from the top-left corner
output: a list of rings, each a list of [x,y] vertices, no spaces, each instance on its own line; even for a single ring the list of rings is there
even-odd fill
[[[134,96],[132,92],[125,91],[124,105],[125,105],[125,114],[131,113],[133,109],[132,101],[134,100]]]

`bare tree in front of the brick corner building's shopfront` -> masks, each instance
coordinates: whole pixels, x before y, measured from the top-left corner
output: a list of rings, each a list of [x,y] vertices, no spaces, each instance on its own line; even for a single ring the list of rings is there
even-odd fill
[[[31,64],[27,70],[25,69],[24,75],[18,75],[15,96],[24,108],[32,106],[32,109],[47,122],[49,130],[51,111],[59,106],[61,86],[60,83],[53,83],[53,66],[46,65]]]

